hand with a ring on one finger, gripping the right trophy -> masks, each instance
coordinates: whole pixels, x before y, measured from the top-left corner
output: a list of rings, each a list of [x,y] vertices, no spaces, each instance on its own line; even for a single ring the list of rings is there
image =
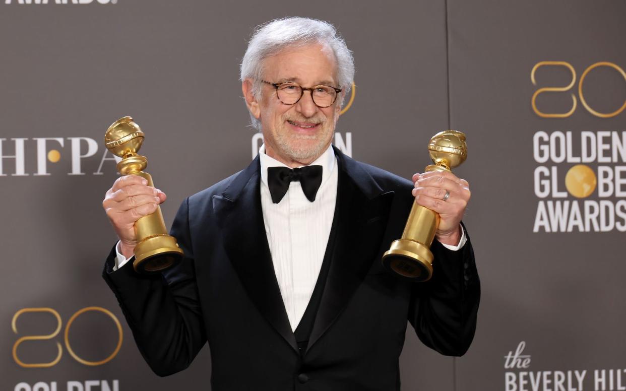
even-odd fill
[[[468,205],[468,181],[449,171],[431,171],[413,175],[413,195],[419,205],[441,216],[435,237],[441,243],[456,246],[461,240],[461,218]]]

